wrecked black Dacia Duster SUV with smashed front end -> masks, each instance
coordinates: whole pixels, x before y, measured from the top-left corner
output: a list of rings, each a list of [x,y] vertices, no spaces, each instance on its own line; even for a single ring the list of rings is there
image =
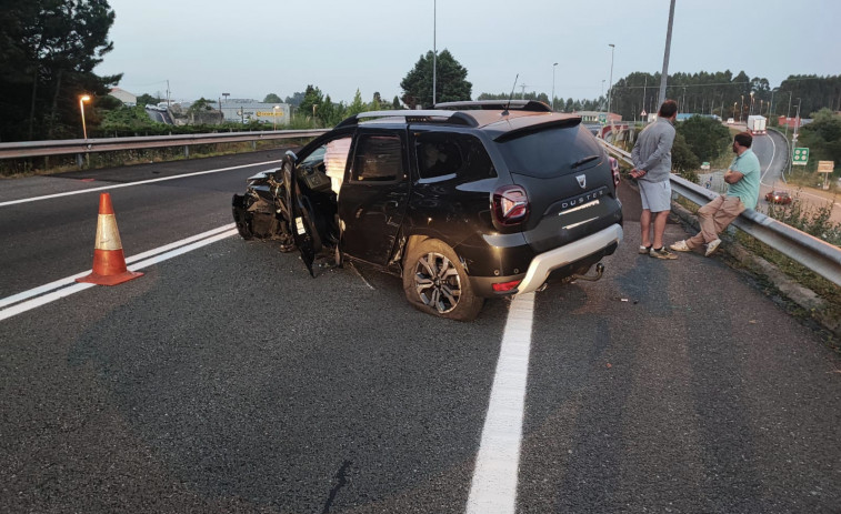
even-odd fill
[[[579,117],[452,102],[344,120],[249,179],[233,218],[244,239],[298,249],[313,276],[363,261],[401,276],[418,309],[471,320],[487,298],[582,278],[612,254],[618,184]]]

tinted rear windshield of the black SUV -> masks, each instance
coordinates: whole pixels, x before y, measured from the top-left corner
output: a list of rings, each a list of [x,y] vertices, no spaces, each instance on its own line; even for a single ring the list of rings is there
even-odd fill
[[[581,171],[599,163],[603,150],[585,127],[550,128],[499,143],[512,173],[540,179]],[[597,157],[572,169],[572,164]]]

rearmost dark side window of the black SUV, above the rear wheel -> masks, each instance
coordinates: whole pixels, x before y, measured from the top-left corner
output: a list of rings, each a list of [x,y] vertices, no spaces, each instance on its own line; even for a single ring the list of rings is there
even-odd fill
[[[484,145],[473,135],[424,132],[417,135],[414,149],[421,179],[497,177]]]

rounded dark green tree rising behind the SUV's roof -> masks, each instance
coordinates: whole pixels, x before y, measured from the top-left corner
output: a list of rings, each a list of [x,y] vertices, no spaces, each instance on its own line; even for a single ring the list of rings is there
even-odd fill
[[[464,69],[444,49],[437,58],[435,102],[432,101],[432,51],[421,56],[414,68],[400,81],[403,89],[403,103],[409,109],[417,105],[432,107],[437,102],[453,102],[470,100],[473,84],[467,81],[468,70]]]

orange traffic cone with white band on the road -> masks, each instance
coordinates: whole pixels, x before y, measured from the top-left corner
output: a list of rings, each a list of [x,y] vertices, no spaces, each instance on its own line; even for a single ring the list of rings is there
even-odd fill
[[[122,253],[120,232],[117,230],[117,218],[111,206],[111,195],[100,193],[99,218],[97,219],[97,244],[93,249],[93,270],[87,276],[76,279],[77,282],[89,282],[99,285],[117,285],[137,279],[143,273],[129,271],[126,268],[126,256]]]

